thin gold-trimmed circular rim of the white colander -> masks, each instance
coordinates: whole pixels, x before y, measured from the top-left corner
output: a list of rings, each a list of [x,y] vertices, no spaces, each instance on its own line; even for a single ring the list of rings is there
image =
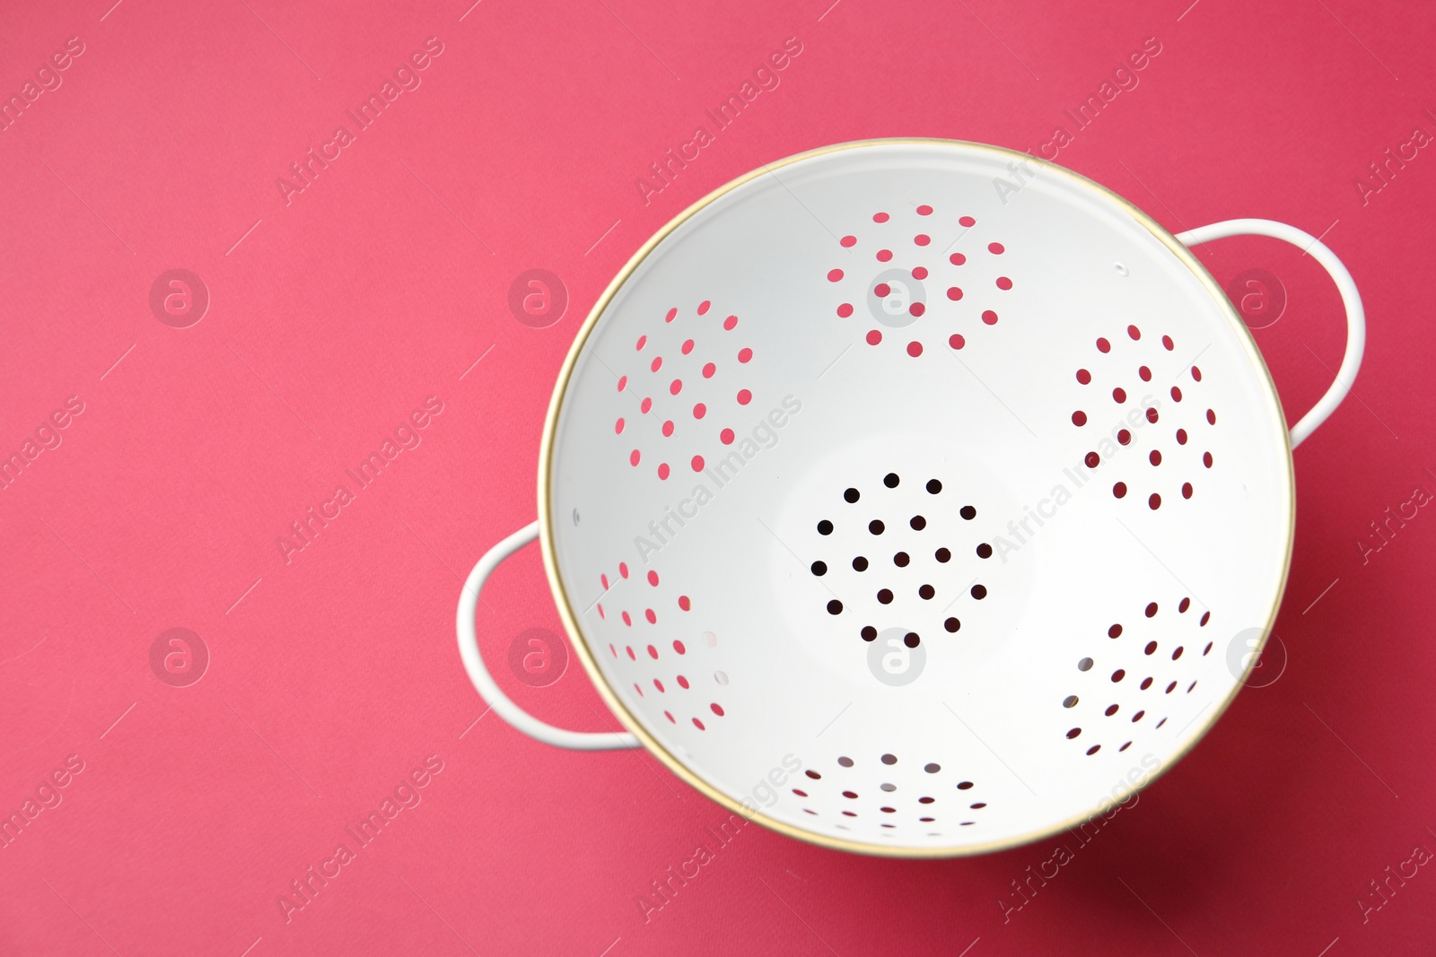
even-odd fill
[[[613,692],[607,679],[599,669],[597,661],[593,657],[593,651],[592,649],[589,649],[587,640],[583,637],[583,630],[579,627],[577,614],[574,613],[573,605],[569,601],[569,594],[563,587],[563,575],[559,571],[559,562],[553,541],[554,522],[550,509],[551,491],[553,491],[551,488],[553,455],[554,455],[554,439],[559,428],[559,415],[563,407],[563,399],[564,395],[567,393],[569,382],[573,376],[573,369],[577,364],[579,356],[583,353],[589,336],[593,333],[593,329],[602,319],[603,311],[607,308],[613,297],[617,296],[623,284],[638,270],[638,267],[643,263],[643,260],[646,260],[648,255],[665,238],[668,238],[673,231],[676,231],[682,224],[685,224],[688,220],[696,215],[701,209],[717,202],[719,198],[732,192],[734,189],[751,182],[752,179],[771,174],[774,169],[781,169],[783,166],[788,166],[791,164],[801,162],[804,159],[811,159],[816,156],[823,156],[827,154],[847,151],[847,149],[862,149],[867,146],[952,146],[959,149],[975,149],[979,152],[991,152],[999,156],[1018,159],[1021,162],[1037,164],[1041,169],[1051,171],[1058,176],[1064,176],[1070,181],[1074,181],[1078,187],[1093,191],[1099,199],[1106,199],[1107,202],[1114,204],[1119,211],[1130,215],[1133,220],[1142,224],[1149,232],[1152,232],[1163,245],[1166,245],[1178,257],[1178,260],[1196,275],[1198,281],[1203,287],[1206,287],[1208,293],[1212,294],[1216,307],[1222,311],[1222,314],[1228,320],[1228,324],[1236,333],[1236,339],[1246,352],[1248,360],[1254,364],[1255,372],[1259,373],[1258,379],[1265,386],[1267,400],[1269,406],[1275,410],[1277,422],[1281,425],[1282,449],[1285,452],[1284,459],[1287,465],[1287,499],[1290,502],[1290,508],[1287,509],[1287,547],[1285,547],[1285,558],[1282,561],[1281,577],[1278,580],[1277,588],[1272,593],[1271,608],[1267,616],[1267,623],[1262,626],[1261,640],[1258,641],[1256,646],[1258,654],[1252,656],[1246,669],[1242,671],[1241,679],[1238,679],[1238,682],[1235,683],[1232,690],[1226,694],[1226,697],[1211,712],[1211,715],[1205,720],[1202,720],[1199,725],[1196,725],[1196,727],[1193,727],[1193,730],[1188,735],[1188,739],[1182,743],[1182,746],[1175,752],[1172,752],[1172,755],[1162,763],[1160,768],[1157,768],[1156,772],[1147,775],[1139,786],[1132,788],[1129,796],[1142,792],[1143,789],[1150,786],[1155,781],[1162,778],[1167,770],[1176,766],[1183,758],[1186,758],[1188,753],[1192,752],[1193,748],[1196,748],[1198,742],[1200,742],[1208,735],[1208,732],[1216,725],[1218,719],[1226,712],[1226,709],[1236,699],[1236,694],[1242,690],[1242,687],[1245,687],[1248,674],[1251,674],[1251,670],[1255,667],[1261,650],[1264,650],[1267,646],[1267,640],[1269,638],[1272,628],[1277,624],[1277,616],[1281,611],[1281,603],[1285,595],[1287,583],[1291,574],[1291,558],[1297,532],[1295,466],[1291,458],[1291,429],[1287,425],[1285,410],[1282,409],[1281,397],[1279,393],[1277,392],[1277,383],[1271,377],[1271,370],[1267,367],[1267,360],[1262,357],[1261,350],[1256,347],[1256,340],[1252,337],[1251,330],[1246,327],[1246,323],[1244,323],[1241,317],[1236,314],[1236,310],[1232,306],[1231,300],[1226,297],[1226,293],[1216,283],[1212,274],[1208,273],[1206,267],[1202,265],[1200,261],[1192,254],[1192,251],[1188,250],[1188,247],[1182,245],[1176,240],[1176,237],[1166,230],[1166,227],[1159,224],[1156,220],[1147,215],[1142,208],[1139,208],[1124,197],[1119,195],[1117,192],[1113,192],[1107,187],[1103,187],[1096,181],[1088,179],[1087,176],[1083,176],[1078,172],[1067,169],[1066,166],[1060,166],[1048,159],[1032,156],[1031,154],[1018,152],[1015,149],[1008,149],[1005,146],[994,146],[989,143],[978,143],[962,139],[920,138],[920,136],[859,139],[843,143],[833,143],[829,146],[820,146],[817,149],[808,149],[800,154],[794,154],[791,156],[785,156],[771,164],[764,164],[758,169],[747,172],[742,176],[731,179],[729,182],[718,187],[712,192],[699,198],[696,202],[691,204],[676,217],[669,220],[661,230],[658,230],[658,232],[649,237],[649,240],[643,242],[643,245],[639,247],[636,253],[633,253],[633,255],[623,265],[623,268],[619,270],[619,273],[613,277],[613,280],[609,281],[607,287],[603,290],[603,294],[597,298],[597,301],[595,301],[593,308],[589,311],[589,316],[584,319],[583,326],[574,336],[573,344],[569,347],[569,353],[564,357],[563,366],[559,370],[559,377],[554,382],[553,395],[549,400],[549,410],[544,416],[543,438],[538,446],[538,484],[537,484],[538,542],[543,550],[544,575],[549,580],[549,588],[553,593],[554,604],[559,608],[559,617],[563,620],[563,627],[569,634],[569,641],[573,646],[574,651],[577,653],[579,660],[583,663],[583,670],[589,674],[589,680],[599,692],[599,696],[603,699],[605,706],[607,706],[607,709],[619,719],[619,722],[638,737],[638,740],[643,745],[643,748],[649,753],[652,753],[655,758],[663,762],[663,765],[685,783],[696,789],[708,799],[727,808],[728,811],[741,815],[748,821],[755,821],[757,824],[768,828],[770,831],[775,831],[785,836],[796,838],[806,844],[813,844],[817,847],[824,847],[839,851],[849,851],[854,854],[864,854],[870,857],[885,857],[885,858],[922,859],[922,858],[976,857],[981,854],[992,854],[997,851],[1007,851],[1011,848],[1024,847],[1041,841],[1043,838],[1051,836],[1054,834],[1071,829],[1087,821],[1091,821],[1100,814],[1104,814],[1107,809],[1110,809],[1111,805],[1104,806],[1103,802],[1099,802],[1097,806],[1094,806],[1091,811],[1086,811],[1080,815],[1067,818],[1057,824],[1045,825],[1043,828],[1038,828],[1037,831],[1011,838],[1002,838],[998,841],[989,841],[987,844],[978,844],[978,845],[938,847],[938,848],[889,847],[883,844],[869,844],[863,841],[849,841],[846,838],[833,838],[824,834],[806,831],[803,828],[794,826],[784,821],[778,821],[775,818],[770,818],[761,811],[745,808],[738,801],[734,801],[732,798],[722,793],[715,786],[709,785],[707,781],[699,778],[678,758],[669,753],[669,750],[642,726],[642,723],[623,704],[622,699],[619,699],[617,694]]]

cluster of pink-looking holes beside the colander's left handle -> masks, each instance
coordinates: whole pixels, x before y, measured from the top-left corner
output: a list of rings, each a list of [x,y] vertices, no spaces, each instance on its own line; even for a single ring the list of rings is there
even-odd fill
[[[699,641],[676,637],[688,633],[682,618],[692,611],[692,600],[669,588],[658,570],[638,572],[626,562],[619,562],[613,578],[603,572],[600,581],[603,594],[595,608],[612,664],[623,677],[615,687],[632,687],[671,725],[708,730],[727,715],[722,702],[729,679],[711,664],[715,634],[705,631]]]

